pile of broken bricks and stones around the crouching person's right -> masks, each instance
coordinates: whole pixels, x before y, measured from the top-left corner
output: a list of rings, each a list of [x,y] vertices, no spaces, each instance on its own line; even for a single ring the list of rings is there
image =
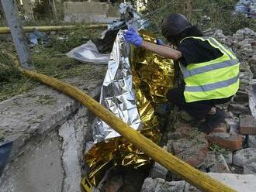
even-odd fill
[[[163,134],[169,153],[206,173],[256,173],[256,121],[249,108],[249,89],[256,78],[256,33],[240,29],[233,36],[215,30],[213,36],[232,48],[240,60],[240,89],[227,105],[220,105],[227,113],[226,122],[206,135],[197,130],[198,124],[184,111],[178,113],[175,124],[168,125]],[[187,186],[187,187],[186,187]],[[144,181],[142,192],[199,191],[188,189],[189,184],[155,163],[150,177]],[[240,190],[239,190],[240,191]],[[247,190],[249,191],[249,190]]]

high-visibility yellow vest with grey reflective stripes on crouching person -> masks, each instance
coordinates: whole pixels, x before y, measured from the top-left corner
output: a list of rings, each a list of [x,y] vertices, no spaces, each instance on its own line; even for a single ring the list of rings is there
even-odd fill
[[[223,53],[222,57],[204,63],[180,63],[185,81],[186,102],[228,98],[239,88],[239,60],[228,48],[211,37],[186,37],[208,41]],[[183,41],[184,39],[182,39]]]

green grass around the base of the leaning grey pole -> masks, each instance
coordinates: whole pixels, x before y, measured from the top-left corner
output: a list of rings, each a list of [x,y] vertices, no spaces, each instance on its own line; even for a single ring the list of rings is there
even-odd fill
[[[95,67],[72,60],[65,53],[85,43],[87,39],[99,36],[101,31],[102,29],[81,28],[50,36],[46,45],[39,45],[31,50],[36,71],[58,79],[79,77],[86,72],[86,75],[90,75],[93,79],[95,74],[99,74],[99,71],[95,71]],[[20,74],[16,69],[8,56],[8,53],[15,53],[15,48],[11,43],[1,41],[0,46],[2,47],[2,53],[0,52],[0,101],[4,101],[31,90],[39,83]]]

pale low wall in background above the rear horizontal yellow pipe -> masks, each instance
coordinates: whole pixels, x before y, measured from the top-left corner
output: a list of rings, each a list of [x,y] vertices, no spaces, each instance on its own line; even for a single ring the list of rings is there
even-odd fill
[[[112,22],[118,7],[106,2],[64,2],[64,22]]]

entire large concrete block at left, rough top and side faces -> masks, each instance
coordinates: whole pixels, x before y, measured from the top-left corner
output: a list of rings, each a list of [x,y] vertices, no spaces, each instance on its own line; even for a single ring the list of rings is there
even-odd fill
[[[102,79],[85,74],[65,81],[99,97]],[[0,114],[5,140],[13,141],[0,191],[81,191],[82,159],[94,118],[85,107],[40,85],[2,101]]]

